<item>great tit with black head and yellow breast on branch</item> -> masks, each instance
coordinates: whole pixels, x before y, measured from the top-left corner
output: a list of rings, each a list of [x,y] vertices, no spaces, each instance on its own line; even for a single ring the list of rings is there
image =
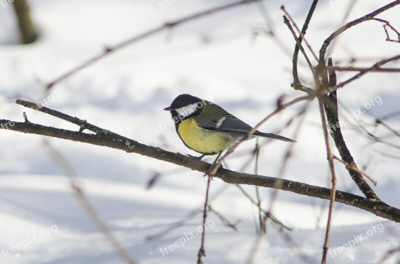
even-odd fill
[[[189,94],[178,95],[169,111],[175,123],[176,133],[183,144],[204,155],[219,155],[233,146],[252,129],[237,117],[226,112],[222,107]],[[270,133],[255,131],[250,138],[265,137],[288,142],[289,138]]]

